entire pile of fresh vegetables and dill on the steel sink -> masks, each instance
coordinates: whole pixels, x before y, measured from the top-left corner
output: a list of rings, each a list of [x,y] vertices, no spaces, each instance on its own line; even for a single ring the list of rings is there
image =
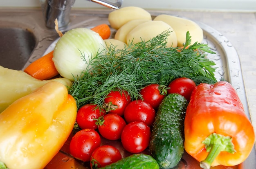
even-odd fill
[[[203,169],[243,162],[253,127],[235,89],[215,78],[202,29],[138,7],[108,19],[115,39],[106,24],[77,28],[24,72],[0,67],[1,79],[24,84],[1,86],[0,169],[43,169],[68,136],[68,153],[91,169],[168,169],[184,151]]]

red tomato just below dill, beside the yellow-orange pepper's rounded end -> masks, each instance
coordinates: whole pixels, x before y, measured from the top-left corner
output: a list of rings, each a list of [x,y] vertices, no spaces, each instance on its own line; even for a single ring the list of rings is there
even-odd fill
[[[97,105],[87,104],[77,111],[76,123],[81,129],[97,129],[98,125],[95,122],[104,114],[105,110],[97,108]]]

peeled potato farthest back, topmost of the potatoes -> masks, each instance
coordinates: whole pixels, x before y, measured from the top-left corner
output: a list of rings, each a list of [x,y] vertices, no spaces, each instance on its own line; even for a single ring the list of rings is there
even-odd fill
[[[124,7],[108,14],[108,22],[113,29],[119,29],[130,20],[152,20],[151,15],[140,7]]]

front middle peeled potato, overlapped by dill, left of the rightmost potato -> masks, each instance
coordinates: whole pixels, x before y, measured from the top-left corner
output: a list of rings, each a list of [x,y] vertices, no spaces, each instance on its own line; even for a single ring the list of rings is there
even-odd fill
[[[177,47],[177,37],[172,27],[163,21],[144,22],[132,29],[126,36],[126,42],[136,44],[144,40],[145,42],[164,31],[171,31],[167,37],[167,47]]]

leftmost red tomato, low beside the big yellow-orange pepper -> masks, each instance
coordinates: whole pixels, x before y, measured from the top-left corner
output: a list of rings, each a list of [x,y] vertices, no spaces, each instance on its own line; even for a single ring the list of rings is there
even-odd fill
[[[94,129],[82,129],[70,141],[70,154],[84,162],[90,161],[92,152],[101,145],[101,138]]]

